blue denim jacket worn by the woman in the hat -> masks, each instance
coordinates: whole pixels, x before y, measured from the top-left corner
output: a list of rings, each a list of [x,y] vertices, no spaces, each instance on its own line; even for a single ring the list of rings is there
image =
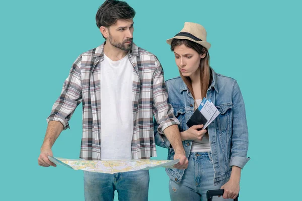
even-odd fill
[[[228,180],[232,166],[243,168],[250,160],[248,151],[248,128],[245,105],[237,81],[233,78],[216,74],[213,69],[212,83],[207,90],[207,99],[211,99],[220,114],[208,126],[212,160],[215,175],[214,185]],[[169,93],[168,102],[179,120],[180,132],[186,131],[187,121],[194,112],[194,98],[182,78],[176,77],[166,81]],[[168,148],[168,160],[173,160],[174,150],[165,135],[158,133],[158,124],[154,121],[155,140],[158,146]],[[189,157],[192,140],[183,141],[186,156]],[[183,169],[169,169],[170,179],[179,183],[184,174]]]

